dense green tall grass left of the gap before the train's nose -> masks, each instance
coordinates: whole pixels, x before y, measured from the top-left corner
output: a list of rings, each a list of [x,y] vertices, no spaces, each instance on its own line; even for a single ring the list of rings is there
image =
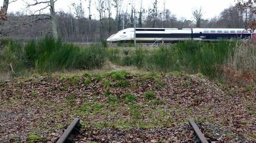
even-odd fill
[[[24,47],[11,41],[1,50],[0,72],[9,72],[10,63],[15,73],[28,70],[51,73],[101,68],[105,64],[106,53],[106,48],[101,45],[81,48],[52,37],[45,37],[37,42],[31,40]]]

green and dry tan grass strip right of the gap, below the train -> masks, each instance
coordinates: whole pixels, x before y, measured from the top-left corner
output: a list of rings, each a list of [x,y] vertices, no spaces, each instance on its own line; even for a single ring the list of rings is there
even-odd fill
[[[201,73],[213,80],[247,86],[256,82],[256,46],[238,41],[160,45],[159,48],[109,48],[112,63],[150,72]]]

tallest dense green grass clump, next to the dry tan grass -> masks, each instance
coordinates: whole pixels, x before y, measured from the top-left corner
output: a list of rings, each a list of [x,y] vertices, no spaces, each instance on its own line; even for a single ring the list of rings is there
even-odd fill
[[[233,53],[236,42],[215,43],[184,42],[177,44],[181,70],[203,73],[211,78],[220,75],[221,66],[229,53]]]

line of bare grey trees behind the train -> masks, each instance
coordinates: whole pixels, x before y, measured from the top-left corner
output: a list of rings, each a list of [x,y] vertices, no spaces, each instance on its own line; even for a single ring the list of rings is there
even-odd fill
[[[55,12],[53,0],[49,3],[50,13],[31,14],[9,13],[8,21],[1,25],[1,37],[7,36],[13,39],[28,40],[40,38],[47,34],[58,35],[64,41],[70,42],[95,42],[106,39],[118,30],[133,27],[135,2],[129,3],[131,9],[122,9],[123,0],[89,0],[88,6],[72,3],[72,11]],[[36,6],[32,3],[29,6]],[[91,4],[95,4],[99,18],[93,19]],[[220,13],[220,16],[211,19],[203,19],[203,8],[195,9],[194,19],[177,18],[170,9],[159,8],[159,1],[154,0],[149,9],[136,9],[137,27],[147,28],[249,28],[249,22],[255,19],[254,7],[246,7],[243,3],[230,6]],[[88,14],[85,15],[85,8]],[[42,10],[42,9],[41,9]],[[40,10],[40,11],[41,11]],[[115,11],[116,16],[112,16]],[[124,23],[123,23],[124,22]],[[56,25],[55,25],[56,24]],[[56,31],[57,30],[57,31]]]

